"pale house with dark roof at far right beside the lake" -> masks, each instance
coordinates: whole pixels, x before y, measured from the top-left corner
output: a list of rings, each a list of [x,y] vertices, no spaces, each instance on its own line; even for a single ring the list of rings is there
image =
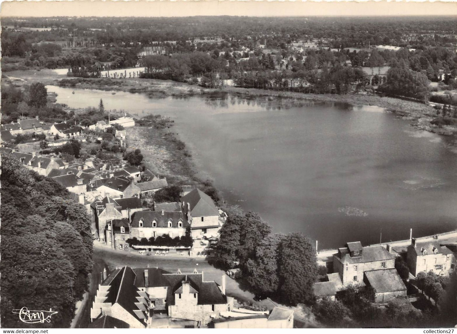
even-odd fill
[[[449,274],[455,269],[455,255],[447,246],[441,246],[438,242],[416,242],[411,239],[408,246],[407,263],[411,274],[417,275],[420,271],[433,271],[437,275]]]

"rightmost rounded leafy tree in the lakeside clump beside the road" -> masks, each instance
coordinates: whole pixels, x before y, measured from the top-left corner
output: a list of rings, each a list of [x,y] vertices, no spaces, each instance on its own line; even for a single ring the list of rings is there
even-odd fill
[[[284,302],[314,302],[313,284],[316,281],[316,250],[302,233],[291,233],[279,246],[279,292]]]

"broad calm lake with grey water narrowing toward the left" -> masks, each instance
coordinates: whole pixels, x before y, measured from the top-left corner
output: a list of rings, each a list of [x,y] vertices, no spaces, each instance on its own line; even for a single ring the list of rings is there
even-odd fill
[[[319,249],[456,228],[457,154],[439,136],[373,106],[236,95],[167,97],[48,86],[72,107],[161,114],[224,198],[273,231],[301,231]],[[72,94],[72,92],[75,94]]]

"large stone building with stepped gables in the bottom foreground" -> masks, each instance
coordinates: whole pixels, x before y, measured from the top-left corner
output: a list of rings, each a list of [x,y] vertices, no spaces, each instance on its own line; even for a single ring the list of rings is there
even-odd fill
[[[91,321],[108,316],[130,328],[203,327],[233,308],[222,286],[203,273],[176,274],[159,268],[123,267],[99,286],[90,309]]]

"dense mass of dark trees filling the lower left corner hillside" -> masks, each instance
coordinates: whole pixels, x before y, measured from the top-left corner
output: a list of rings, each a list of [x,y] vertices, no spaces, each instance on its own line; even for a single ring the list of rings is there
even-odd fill
[[[92,234],[84,206],[55,181],[1,154],[1,324],[69,328],[92,267]],[[50,323],[27,324],[13,309],[52,308]]]

